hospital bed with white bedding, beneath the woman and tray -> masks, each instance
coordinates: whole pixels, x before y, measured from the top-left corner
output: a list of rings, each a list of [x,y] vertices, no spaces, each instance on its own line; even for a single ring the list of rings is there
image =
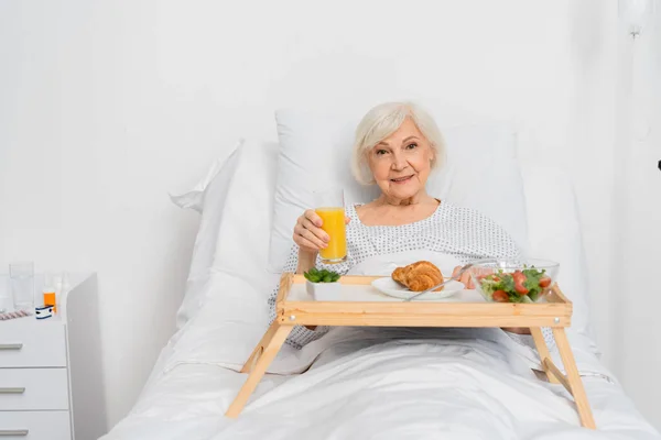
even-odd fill
[[[288,116],[279,117],[284,133]],[[503,151],[491,141],[451,151],[449,167],[436,183],[454,182],[454,188],[440,189],[442,196],[489,211],[480,206],[484,197],[470,197],[462,187],[459,155],[480,154],[491,164],[498,156],[514,157],[518,178],[492,177],[503,182],[499,189],[513,204],[508,209],[514,218],[501,212],[499,220],[522,217],[522,224],[508,226],[524,232],[517,238],[522,248],[561,263],[559,283],[574,302],[568,337],[597,431],[581,428],[562,385],[532,373],[542,370],[533,349],[498,329],[486,340],[457,329],[444,341],[429,338],[425,329],[335,329],[300,351],[285,345],[240,417],[226,418],[247,377],[238,371],[269,324],[267,297],[280,278],[273,230],[282,220],[283,179],[295,176],[283,176],[279,167],[291,161],[294,170],[301,165],[295,152],[283,153],[283,141],[291,140],[240,140],[195,188],[173,198],[202,215],[178,330],[129,415],[102,440],[661,439],[599,361],[568,176],[554,166],[520,163],[516,148],[512,155],[509,146]],[[454,141],[466,139],[456,134]],[[470,169],[476,173],[479,164]],[[513,200],[514,193],[520,200]]]

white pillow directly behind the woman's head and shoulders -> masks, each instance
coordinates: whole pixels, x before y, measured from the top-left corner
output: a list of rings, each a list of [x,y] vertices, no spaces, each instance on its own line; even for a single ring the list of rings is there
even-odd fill
[[[312,191],[329,185],[345,189],[345,202],[367,202],[380,190],[355,182],[349,162],[359,120],[278,110],[278,179],[270,238],[269,270],[281,272],[292,246],[296,218],[312,207]],[[516,158],[516,134],[503,125],[442,128],[447,165],[427,182],[430,195],[477,209],[500,223],[528,252],[523,184]]]

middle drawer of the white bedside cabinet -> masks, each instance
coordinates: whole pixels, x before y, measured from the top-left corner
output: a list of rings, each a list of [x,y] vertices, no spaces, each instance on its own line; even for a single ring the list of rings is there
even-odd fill
[[[31,409],[68,409],[66,369],[0,370],[0,411]]]

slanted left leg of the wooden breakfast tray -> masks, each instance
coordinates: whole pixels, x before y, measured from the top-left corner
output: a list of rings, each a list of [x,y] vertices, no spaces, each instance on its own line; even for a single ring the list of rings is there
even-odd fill
[[[280,348],[282,346],[282,344],[286,340],[286,337],[291,333],[293,328],[293,326],[282,326],[274,321],[273,324],[271,324],[271,327],[269,328],[269,330],[267,330],[267,333],[264,334],[260,343],[257,345],[257,348],[248,359],[248,362],[246,362],[246,365],[243,365],[243,369],[241,370],[246,370],[247,365],[250,366],[254,361],[254,358],[257,358],[257,363],[254,364],[254,367],[248,375],[246,383],[243,384],[243,386],[239,391],[239,394],[237,394],[237,397],[235,397],[234,402],[227,409],[227,413],[225,413],[226,417],[236,418],[239,416],[239,414],[241,414],[241,410],[246,406],[248,398],[250,398],[250,395],[257,387],[257,384],[259,384],[259,381],[261,381],[261,378],[263,377],[264,373],[267,372],[267,369],[269,367],[271,362],[273,362],[275,355],[278,355]],[[264,342],[264,345],[262,345],[262,342]]]

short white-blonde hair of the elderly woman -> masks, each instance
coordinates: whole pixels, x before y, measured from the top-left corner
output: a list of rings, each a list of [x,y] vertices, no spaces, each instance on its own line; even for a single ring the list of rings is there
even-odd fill
[[[432,169],[444,163],[445,140],[434,119],[413,102],[386,102],[368,111],[356,128],[351,173],[359,184],[375,183],[367,164],[367,154],[375,145],[394,133],[407,118],[411,118],[434,152]]]

